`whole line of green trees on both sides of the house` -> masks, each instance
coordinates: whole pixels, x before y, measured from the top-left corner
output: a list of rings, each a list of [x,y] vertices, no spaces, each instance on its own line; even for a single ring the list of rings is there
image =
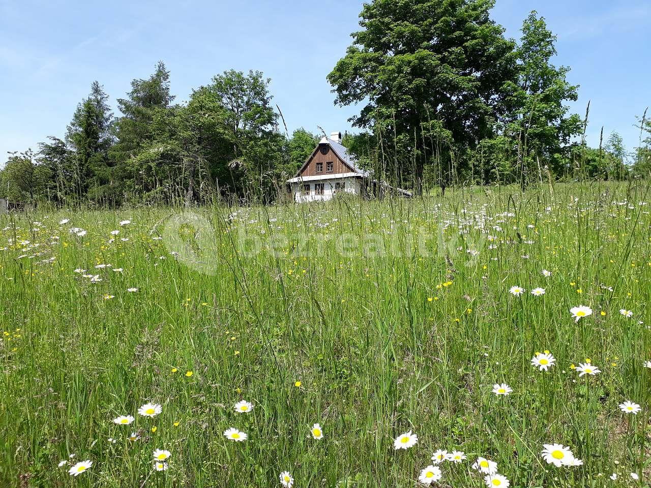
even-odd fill
[[[344,137],[375,178],[417,193],[458,184],[646,176],[651,121],[639,147],[617,133],[585,141],[589,110],[571,114],[578,87],[555,66],[556,38],[531,12],[519,42],[490,18],[492,0],[374,0],[328,75],[336,102],[360,103]],[[271,201],[284,195],[322,134],[288,134],[260,72],[230,70],[174,103],[159,62],[109,107],[92,83],[63,139],[10,154],[0,197],[56,205]],[[311,124],[318,122],[314,114]]]

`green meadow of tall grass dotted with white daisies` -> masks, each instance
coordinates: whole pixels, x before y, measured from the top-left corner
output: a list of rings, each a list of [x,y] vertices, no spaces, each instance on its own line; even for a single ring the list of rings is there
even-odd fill
[[[3,215],[0,485],[647,486],[650,211],[633,182]]]

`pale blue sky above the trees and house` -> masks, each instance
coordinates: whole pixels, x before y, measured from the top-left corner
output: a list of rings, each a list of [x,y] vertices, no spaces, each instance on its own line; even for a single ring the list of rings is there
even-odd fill
[[[0,164],[7,151],[61,137],[90,83],[115,99],[158,60],[177,101],[234,68],[261,70],[292,131],[350,129],[355,107],[335,107],[326,75],[358,27],[361,0],[0,0]],[[493,18],[519,37],[532,9],[558,35],[556,64],[588,100],[589,141],[616,130],[637,145],[635,115],[651,105],[648,0],[497,0]]]

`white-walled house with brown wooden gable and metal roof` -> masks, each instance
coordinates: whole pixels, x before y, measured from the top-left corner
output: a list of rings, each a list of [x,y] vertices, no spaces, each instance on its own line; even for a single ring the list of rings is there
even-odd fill
[[[294,178],[287,180],[296,202],[331,200],[337,193],[366,195],[370,173],[341,145],[341,133],[324,137]]]

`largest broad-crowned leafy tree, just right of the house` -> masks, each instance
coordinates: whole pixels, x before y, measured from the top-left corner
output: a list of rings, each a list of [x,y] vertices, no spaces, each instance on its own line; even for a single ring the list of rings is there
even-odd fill
[[[364,104],[355,126],[381,130],[395,137],[389,146],[412,154],[415,186],[434,139],[475,146],[506,113],[504,86],[514,78],[516,53],[489,16],[493,5],[374,0],[328,75],[337,103]]]

